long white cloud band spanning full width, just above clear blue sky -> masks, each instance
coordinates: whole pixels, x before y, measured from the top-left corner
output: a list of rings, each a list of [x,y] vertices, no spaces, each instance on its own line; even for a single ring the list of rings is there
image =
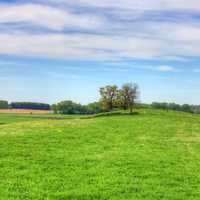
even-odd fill
[[[65,34],[0,34],[0,53],[62,59],[166,59],[200,54],[200,42],[187,43],[138,37]]]

